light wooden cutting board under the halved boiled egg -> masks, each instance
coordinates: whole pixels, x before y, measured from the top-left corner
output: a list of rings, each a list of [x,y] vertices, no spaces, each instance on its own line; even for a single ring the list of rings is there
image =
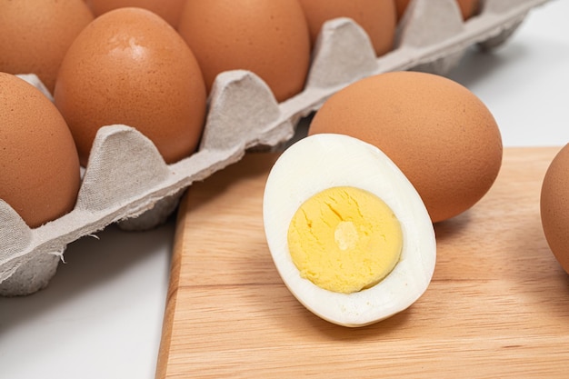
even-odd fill
[[[569,377],[569,276],[539,216],[557,151],[506,149],[490,192],[435,226],[423,297],[356,329],[321,320],[284,287],[262,219],[276,155],[246,155],[181,205],[156,377]]]

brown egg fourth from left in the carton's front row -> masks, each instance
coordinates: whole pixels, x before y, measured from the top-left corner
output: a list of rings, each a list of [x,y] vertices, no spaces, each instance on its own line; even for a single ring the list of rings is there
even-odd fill
[[[376,55],[384,55],[393,49],[396,25],[394,0],[300,0],[300,3],[313,44],[325,21],[350,17],[364,28]]]

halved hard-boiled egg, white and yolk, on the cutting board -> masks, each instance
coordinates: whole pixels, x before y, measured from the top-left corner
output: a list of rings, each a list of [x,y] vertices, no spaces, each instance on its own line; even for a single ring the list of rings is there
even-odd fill
[[[279,156],[263,199],[284,284],[324,320],[364,326],[408,308],[434,274],[429,214],[396,165],[347,135],[313,135]]]

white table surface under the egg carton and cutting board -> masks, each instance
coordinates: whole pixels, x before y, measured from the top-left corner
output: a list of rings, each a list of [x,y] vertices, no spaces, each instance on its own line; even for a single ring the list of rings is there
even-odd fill
[[[494,114],[504,146],[569,142],[569,1],[535,8],[489,54],[449,75]],[[70,244],[49,286],[0,298],[0,377],[153,378],[175,222],[115,226]]]

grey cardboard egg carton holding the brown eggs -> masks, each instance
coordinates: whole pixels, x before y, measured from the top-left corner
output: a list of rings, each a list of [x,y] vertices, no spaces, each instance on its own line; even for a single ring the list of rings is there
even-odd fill
[[[165,165],[155,145],[127,125],[108,125],[95,138],[75,208],[30,229],[0,200],[0,295],[32,294],[45,287],[67,244],[117,223],[145,230],[175,212],[185,189],[252,149],[277,149],[297,125],[344,86],[370,75],[415,70],[445,75],[473,45],[504,43],[527,13],[546,0],[485,0],[463,21],[454,0],[414,0],[401,20],[394,50],[376,57],[364,30],[348,18],[323,26],[314,46],[305,89],[277,104],[256,75],[235,70],[218,75],[208,99],[198,151]],[[33,74],[20,75],[51,98]]]

